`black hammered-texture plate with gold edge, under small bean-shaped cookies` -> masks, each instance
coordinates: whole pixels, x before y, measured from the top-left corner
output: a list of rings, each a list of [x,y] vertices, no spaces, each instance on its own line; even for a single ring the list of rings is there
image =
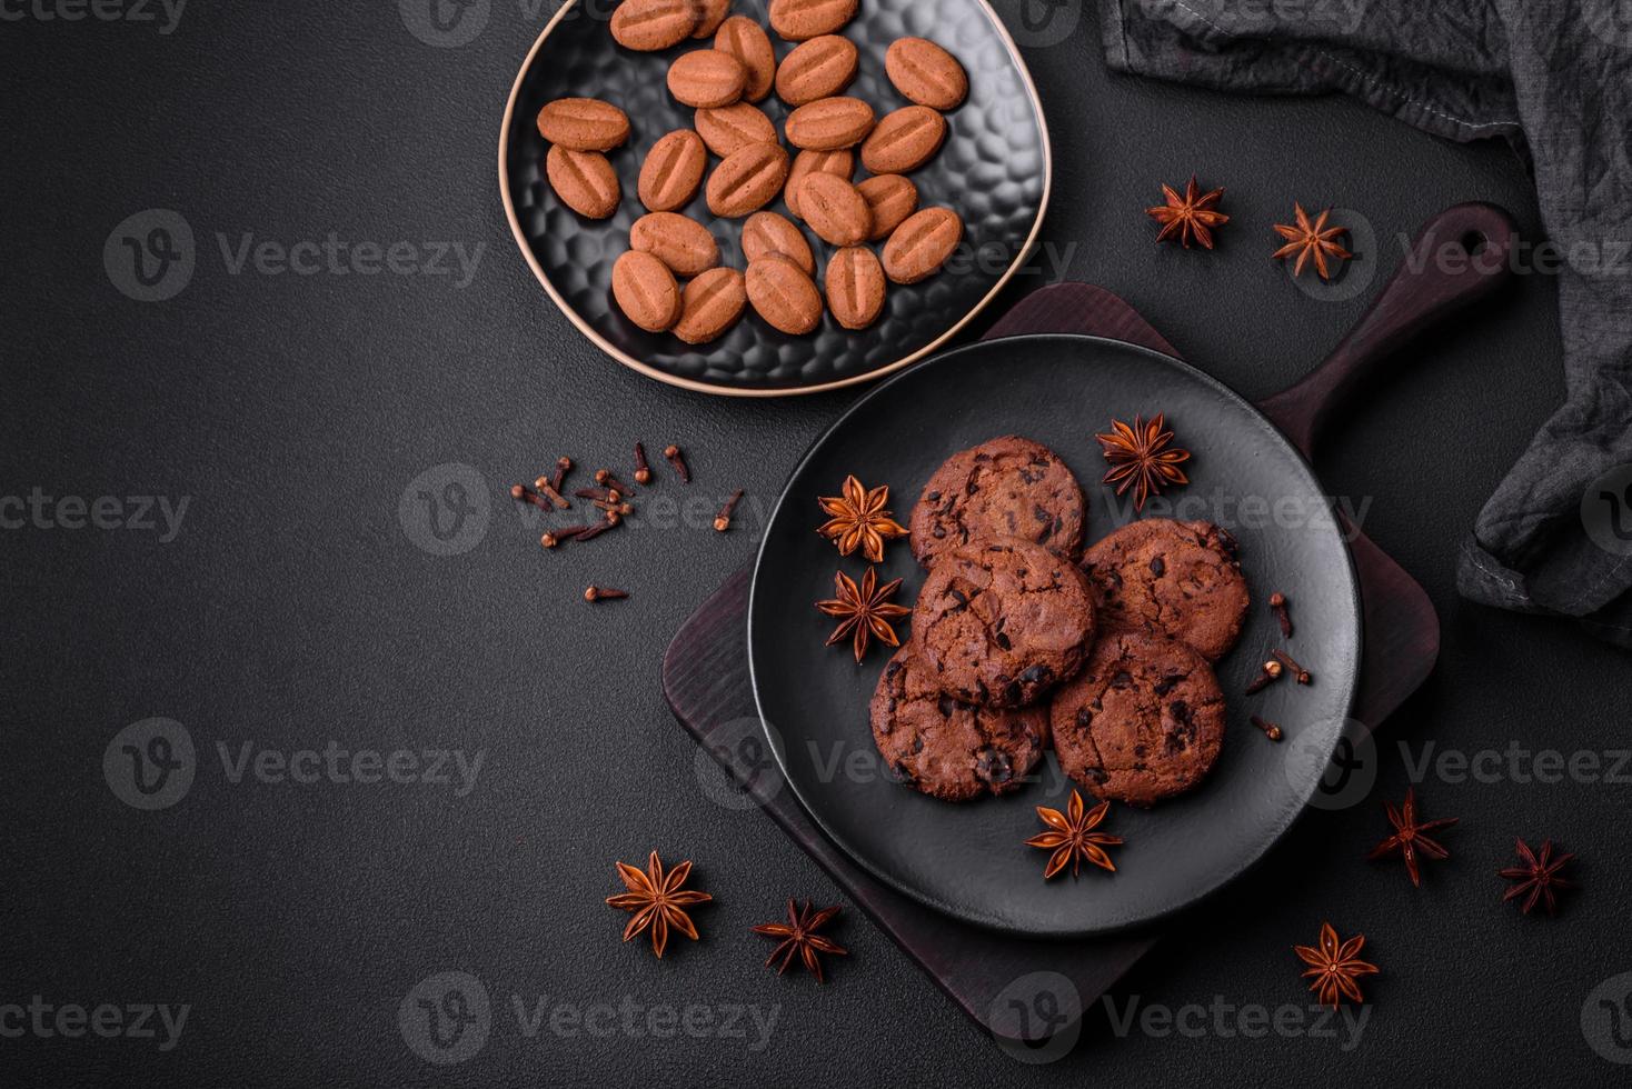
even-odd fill
[[[787,336],[749,315],[726,336],[687,347],[667,334],[643,333],[612,302],[612,262],[628,248],[628,228],[645,214],[635,196],[640,165],[666,132],[692,127],[694,111],[667,91],[669,64],[692,41],[640,54],[607,31],[610,3],[570,0],[522,64],[499,137],[499,189],[522,256],[550,298],[614,359],[681,386],[739,396],[809,393],[878,377],[927,355],[969,321],[1025,261],[1048,207],[1049,150],[1043,109],[1020,52],[982,0],[862,0],[842,31],[862,51],[862,72],[847,95],[880,116],[906,106],[885,75],[885,49],[902,36],[938,41],[969,73],[969,98],[948,114],[947,145],[912,174],[920,205],[945,204],[963,215],[966,233],[947,271],[912,287],[889,289],[883,316],[862,333],[824,318],[811,336]],[[734,15],[769,26],[764,0],[734,0]],[[793,42],[772,34],[777,59]],[[610,155],[623,202],[607,220],[586,220],[565,207],[543,176],[548,150],[539,137],[539,109],[563,96],[604,98],[633,121],[630,143]],[[761,106],[780,132],[787,108],[775,95]],[[710,170],[718,160],[710,157]],[[865,171],[857,165],[857,179]],[[778,199],[770,205],[787,214]],[[716,220],[702,194],[684,209],[720,240],[726,264],[743,262],[741,220]],[[818,277],[826,269],[821,241]]]

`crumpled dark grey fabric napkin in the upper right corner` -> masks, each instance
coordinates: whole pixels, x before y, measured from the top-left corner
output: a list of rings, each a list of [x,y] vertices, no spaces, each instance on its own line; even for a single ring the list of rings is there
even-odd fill
[[[1464,597],[1632,647],[1632,5],[1103,0],[1113,68],[1232,91],[1346,91],[1529,158],[1559,254],[1567,399],[1462,546]]]

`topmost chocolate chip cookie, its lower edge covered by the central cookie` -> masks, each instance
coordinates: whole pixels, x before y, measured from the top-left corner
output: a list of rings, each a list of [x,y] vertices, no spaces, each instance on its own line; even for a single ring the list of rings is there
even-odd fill
[[[1087,515],[1082,487],[1048,447],[1004,435],[947,458],[912,509],[912,554],[925,567],[971,541],[1018,536],[1075,559]]]

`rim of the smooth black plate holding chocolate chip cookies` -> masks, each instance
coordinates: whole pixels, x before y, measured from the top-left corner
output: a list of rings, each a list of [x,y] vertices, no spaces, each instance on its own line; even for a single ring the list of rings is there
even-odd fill
[[[1036,341],[1067,341],[1067,342],[1072,342],[1072,344],[1113,346],[1116,349],[1131,349],[1134,352],[1139,352],[1139,354],[1144,354],[1144,355],[1151,355],[1151,357],[1159,359],[1159,360],[1162,360],[1165,364],[1175,365],[1182,372],[1190,372],[1191,375],[1198,377],[1204,385],[1217,390],[1226,398],[1229,398],[1229,399],[1242,404],[1255,417],[1258,417],[1263,422],[1263,427],[1270,434],[1273,434],[1281,443],[1284,443],[1286,450],[1293,455],[1293,458],[1296,460],[1296,463],[1304,468],[1304,471],[1309,474],[1309,479],[1314,481],[1315,487],[1320,489],[1320,494],[1325,496],[1325,491],[1324,491],[1324,487],[1320,484],[1320,476],[1319,476],[1319,473],[1315,473],[1315,468],[1309,461],[1309,456],[1304,455],[1304,452],[1299,450],[1296,447],[1296,443],[1293,443],[1293,440],[1286,437],[1286,432],[1283,432],[1263,412],[1263,409],[1260,409],[1257,404],[1253,404],[1252,401],[1248,401],[1245,396],[1242,396],[1240,393],[1237,393],[1234,388],[1231,388],[1224,381],[1214,378],[1213,375],[1206,373],[1204,370],[1201,370],[1195,364],[1190,364],[1190,362],[1186,362],[1183,359],[1178,359],[1177,355],[1169,355],[1167,352],[1159,352],[1159,351],[1155,351],[1152,347],[1146,347],[1142,344],[1133,344],[1129,341],[1118,341],[1116,337],[1090,336],[1090,334],[1082,334],[1082,333],[1025,333],[1025,334],[1018,334],[1018,336],[996,337],[992,341],[974,341],[973,344],[965,344],[961,347],[956,347],[956,349],[953,349],[950,352],[943,352],[942,355],[938,355],[938,357],[925,362],[920,368],[935,367],[940,362],[948,360],[948,359],[955,359],[958,355],[963,355],[965,352],[981,351],[981,349],[992,347],[992,346],[1000,346],[1000,344],[1013,344],[1017,341],[1020,341],[1020,342],[1025,342],[1025,341],[1031,341],[1031,342],[1036,342]],[[906,380],[909,373],[917,373],[917,370],[920,370],[920,368],[914,368],[912,372],[906,372],[906,373],[898,373],[889,381],[883,381],[883,383],[873,386],[871,390],[868,390],[867,393],[863,393],[860,398],[857,398],[854,403],[850,403],[850,406],[845,408],[845,411],[839,416],[839,419],[836,419],[816,439],[811,440],[809,447],[806,447],[805,453],[800,455],[800,460],[788,471],[788,478],[787,478],[787,483],[782,487],[782,494],[777,496],[777,505],[772,509],[770,518],[765,523],[767,531],[765,531],[764,538],[761,538],[759,548],[754,551],[754,572],[752,572],[752,577],[749,579],[749,587],[747,587],[747,610],[746,610],[746,624],[744,624],[744,629],[746,629],[744,634],[746,634],[746,644],[747,644],[747,647],[746,647],[746,652],[747,652],[747,677],[749,677],[749,688],[754,693],[754,714],[759,716],[759,727],[764,732],[765,742],[770,745],[770,752],[772,752],[772,755],[777,760],[777,771],[782,776],[782,783],[788,787],[788,791],[792,791],[792,794],[798,800],[800,807],[811,818],[811,822],[821,830],[823,836],[829,843],[832,843],[834,848],[840,854],[844,854],[844,858],[847,858],[849,861],[852,861],[857,866],[860,866],[867,874],[870,874],[876,880],[883,882],[891,890],[894,890],[894,892],[898,892],[898,893],[901,893],[901,895],[914,900],[916,903],[920,903],[920,905],[924,905],[924,906],[927,906],[927,908],[930,908],[934,911],[938,911],[940,915],[943,915],[947,918],[956,919],[960,923],[966,923],[966,924],[971,924],[971,926],[979,926],[982,929],[989,929],[989,931],[996,931],[996,932],[1002,932],[1002,934],[1013,934],[1013,936],[1022,936],[1022,937],[1030,937],[1030,939],[1038,939],[1038,941],[1080,941],[1080,939],[1085,939],[1085,937],[1106,937],[1106,936],[1113,936],[1113,934],[1138,932],[1138,931],[1142,931],[1142,929],[1149,929],[1151,926],[1157,926],[1157,924],[1172,921],[1173,918],[1183,915],[1185,911],[1195,910],[1200,903],[1203,903],[1204,900],[1209,900],[1211,897],[1221,893],[1227,887],[1234,885],[1237,880],[1242,880],[1253,869],[1257,869],[1260,864],[1263,864],[1265,858],[1268,858],[1268,854],[1286,838],[1286,835],[1291,831],[1293,825],[1296,825],[1306,815],[1306,812],[1309,810],[1309,797],[1314,797],[1314,792],[1319,789],[1319,779],[1310,787],[1309,797],[1304,797],[1299,805],[1289,809],[1289,815],[1284,820],[1279,822],[1279,827],[1275,830],[1273,838],[1268,841],[1268,844],[1257,856],[1253,856],[1252,859],[1248,859],[1247,864],[1242,866],[1242,869],[1237,871],[1235,874],[1231,874],[1224,880],[1219,880],[1219,882],[1216,882],[1216,884],[1213,884],[1213,885],[1209,885],[1209,887],[1196,892],[1186,902],[1178,903],[1175,906],[1170,906],[1170,908],[1167,908],[1164,911],[1159,911],[1157,915],[1152,915],[1152,916],[1147,916],[1147,918],[1142,918],[1142,919],[1136,919],[1136,921],[1129,921],[1129,923],[1118,923],[1118,924],[1113,924],[1113,926],[1095,926],[1095,928],[1071,929],[1071,931],[1064,931],[1064,929],[1059,929],[1059,931],[1035,931],[1035,929],[1025,929],[1025,928],[1020,928],[1020,926],[1010,926],[1010,924],[1007,924],[1002,919],[992,919],[992,918],[973,915],[973,913],[965,911],[965,910],[961,910],[961,908],[958,908],[955,905],[950,905],[950,903],[945,903],[942,900],[937,900],[935,897],[927,895],[924,890],[914,888],[914,887],[907,885],[904,880],[898,879],[894,874],[886,872],[881,867],[875,866],[871,859],[863,858],[862,854],[857,854],[855,851],[852,851],[847,846],[847,841],[840,840],[834,833],[834,830],[829,827],[829,822],[823,818],[823,815],[805,797],[805,792],[800,791],[798,781],[795,779],[793,774],[788,773],[787,753],[783,752],[782,738],[778,735],[780,732],[774,734],[765,725],[767,724],[765,709],[764,709],[764,701],[761,698],[759,673],[756,670],[756,662],[754,662],[754,657],[756,657],[754,655],[754,615],[756,615],[754,605],[756,605],[756,600],[759,597],[759,574],[761,574],[761,569],[764,567],[765,551],[770,546],[770,531],[769,530],[770,530],[772,525],[775,525],[777,517],[782,514],[783,504],[790,499],[793,478],[800,474],[800,471],[806,466],[806,463],[811,460],[811,456],[814,456],[816,450],[821,445],[824,445],[834,435],[834,432],[837,432],[855,414],[855,411],[862,408],[862,404],[871,401],[876,396],[883,396],[883,393],[886,390],[889,390],[893,385],[896,385],[898,381]],[[1366,654],[1364,654],[1364,647],[1366,647],[1366,610],[1364,610],[1364,597],[1363,597],[1361,582],[1359,582],[1359,567],[1355,562],[1355,549],[1350,544],[1350,541],[1343,540],[1343,535],[1340,531],[1337,531],[1337,530],[1333,530],[1333,531],[1337,535],[1338,544],[1342,544],[1343,559],[1345,559],[1346,567],[1348,567],[1350,606],[1351,606],[1353,615],[1355,615],[1353,670],[1350,672],[1350,678],[1348,678],[1348,685],[1346,685],[1346,693],[1343,694],[1343,699],[1340,701],[1340,706],[1342,706],[1342,722],[1345,724],[1343,729],[1348,729],[1348,724],[1353,722],[1353,717],[1355,717],[1355,701],[1359,696],[1359,675],[1361,675],[1361,670],[1364,668],[1364,659],[1366,659]],[[1340,730],[1340,737],[1342,737],[1342,730]]]

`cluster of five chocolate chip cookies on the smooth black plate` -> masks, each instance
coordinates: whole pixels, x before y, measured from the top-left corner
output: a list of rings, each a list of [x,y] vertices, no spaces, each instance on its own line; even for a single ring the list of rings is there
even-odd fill
[[[1154,805],[1213,769],[1213,662],[1250,603],[1235,541],[1144,518],[1084,551],[1085,525],[1075,476],[1018,435],[924,486],[909,530],[929,575],[870,708],[898,779],[956,802],[1007,794],[1053,745],[1093,796]]]

